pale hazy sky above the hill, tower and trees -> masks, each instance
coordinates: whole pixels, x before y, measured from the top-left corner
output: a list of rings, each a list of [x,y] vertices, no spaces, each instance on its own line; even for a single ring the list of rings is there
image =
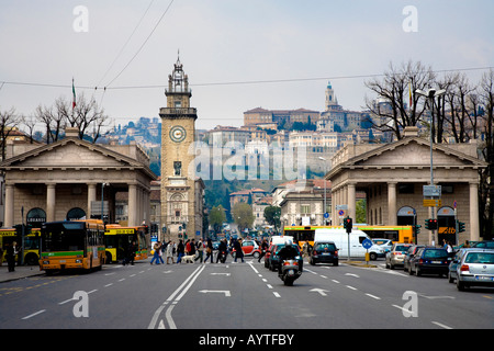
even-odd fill
[[[416,16],[403,13],[411,5]],[[157,117],[180,50],[198,128],[240,126],[258,106],[323,111],[328,79],[361,111],[360,76],[390,61],[494,66],[493,14],[491,0],[0,0],[0,109],[29,115],[71,100],[74,77],[112,126]],[[478,82],[482,71],[465,73]]]

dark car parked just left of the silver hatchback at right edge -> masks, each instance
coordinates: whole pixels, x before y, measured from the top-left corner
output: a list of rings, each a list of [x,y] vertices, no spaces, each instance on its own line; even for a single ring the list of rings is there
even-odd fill
[[[409,274],[439,274],[447,275],[449,271],[449,254],[442,248],[420,248],[409,260]]]

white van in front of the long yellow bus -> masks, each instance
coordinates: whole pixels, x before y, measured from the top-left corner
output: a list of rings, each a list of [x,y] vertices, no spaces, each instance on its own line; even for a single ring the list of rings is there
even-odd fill
[[[362,241],[370,240],[370,238],[362,230],[353,229],[348,236],[346,229],[343,228],[318,228],[314,233],[314,242],[333,241],[338,249],[338,257],[348,258],[348,237],[350,237],[350,258],[366,258],[367,250],[363,248]],[[369,256],[371,260],[377,260],[378,257],[384,257],[384,250],[378,245],[372,245]]]

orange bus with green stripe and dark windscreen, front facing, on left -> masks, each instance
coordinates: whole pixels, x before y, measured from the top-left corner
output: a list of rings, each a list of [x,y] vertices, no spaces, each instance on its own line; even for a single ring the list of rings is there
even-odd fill
[[[41,228],[40,269],[100,270],[104,263],[104,225],[101,219],[44,223]]]

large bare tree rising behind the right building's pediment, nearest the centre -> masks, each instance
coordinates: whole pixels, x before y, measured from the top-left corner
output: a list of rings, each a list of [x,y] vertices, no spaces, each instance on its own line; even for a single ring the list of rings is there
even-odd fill
[[[420,61],[408,61],[400,68],[390,63],[384,78],[366,81],[366,87],[377,95],[373,99],[366,98],[367,109],[374,116],[372,126],[382,132],[393,132],[401,139],[403,128],[417,125],[426,111],[423,99],[414,91],[425,90],[434,79],[431,68]],[[388,107],[382,109],[381,104],[375,103],[377,100],[383,101]]]

